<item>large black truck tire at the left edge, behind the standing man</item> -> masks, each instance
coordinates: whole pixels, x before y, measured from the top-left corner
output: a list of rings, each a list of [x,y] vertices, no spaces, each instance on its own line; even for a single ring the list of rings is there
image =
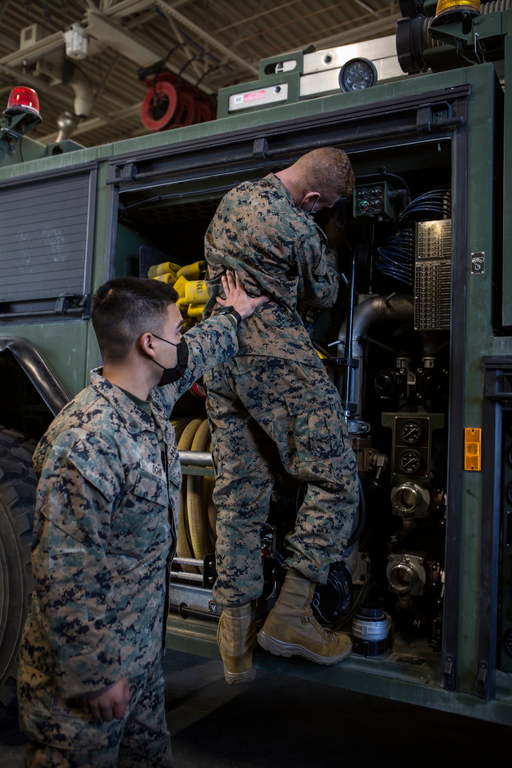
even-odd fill
[[[0,720],[15,703],[16,656],[31,602],[35,442],[0,427]]]

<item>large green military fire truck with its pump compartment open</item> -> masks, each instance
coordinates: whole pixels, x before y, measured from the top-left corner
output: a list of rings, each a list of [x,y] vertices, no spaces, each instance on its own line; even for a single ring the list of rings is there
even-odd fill
[[[356,174],[336,212],[349,227],[342,287],[332,310],[299,311],[339,387],[363,502],[345,570],[318,589],[316,609],[357,642],[329,669],[263,650],[255,663],[512,722],[508,5],[461,0],[437,12],[432,0],[404,2],[392,55],[378,40],[350,47],[348,59],[342,48],[267,59],[257,81],[220,91],[216,121],[101,147],[42,146],[27,135],[34,110],[11,104],[0,131],[4,707],[31,595],[31,453],[101,362],[94,290],[160,263],[201,262],[227,190],[328,145],[348,152]],[[200,388],[172,418],[183,489],[167,644],[216,657],[214,481]],[[276,482],[261,532],[260,618],[279,588],[299,494]],[[385,627],[378,647],[372,617]]]

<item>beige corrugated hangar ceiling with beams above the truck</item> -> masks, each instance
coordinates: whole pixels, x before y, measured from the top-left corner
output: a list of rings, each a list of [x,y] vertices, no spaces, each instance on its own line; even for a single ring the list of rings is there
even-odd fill
[[[31,137],[55,141],[58,115],[73,111],[62,31],[74,22],[88,34],[88,55],[74,64],[92,103],[71,137],[91,147],[148,132],[142,66],[167,58],[171,72],[216,94],[257,79],[262,58],[391,35],[399,16],[393,0],[0,0],[0,108],[13,86],[35,88],[42,122]]]

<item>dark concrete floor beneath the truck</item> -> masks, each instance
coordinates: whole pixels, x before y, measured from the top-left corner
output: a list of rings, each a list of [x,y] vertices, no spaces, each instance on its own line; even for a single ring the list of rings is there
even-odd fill
[[[228,686],[220,661],[177,651],[163,666],[176,768],[510,765],[502,725],[261,670]],[[1,768],[23,766],[24,742],[13,728],[0,733]]]

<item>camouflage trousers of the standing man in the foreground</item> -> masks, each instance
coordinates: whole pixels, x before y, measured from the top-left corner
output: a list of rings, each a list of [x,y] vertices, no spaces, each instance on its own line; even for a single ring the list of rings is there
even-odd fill
[[[53,695],[53,720],[24,717],[27,702],[20,700],[20,727],[31,739],[25,768],[173,768],[170,734],[165,720],[164,677],[160,659],[149,672],[129,680],[130,705],[123,720],[105,723],[85,716],[78,702],[58,707]],[[48,692],[47,692],[48,693]],[[35,690],[35,697],[45,697]],[[70,740],[58,724],[77,721]]]

